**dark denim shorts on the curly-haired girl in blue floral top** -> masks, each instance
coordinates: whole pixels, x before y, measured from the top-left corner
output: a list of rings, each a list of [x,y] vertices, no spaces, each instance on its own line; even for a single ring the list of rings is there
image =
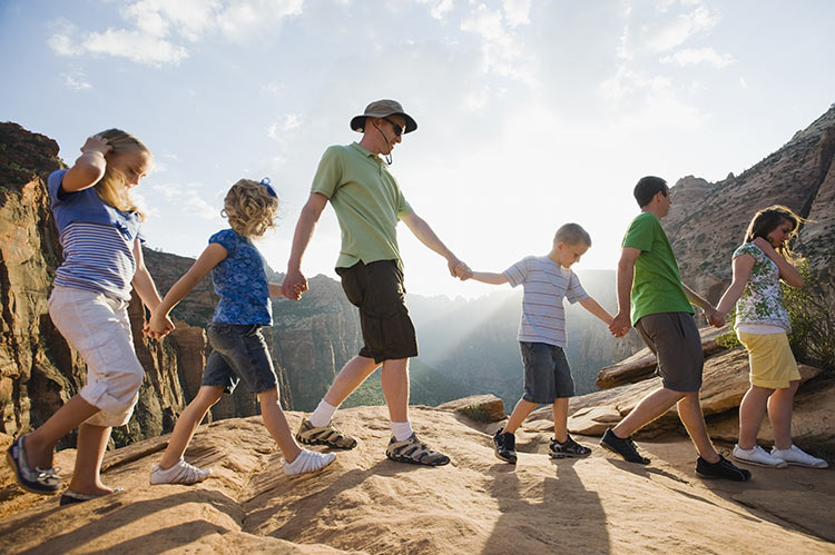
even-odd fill
[[[203,370],[202,386],[224,387],[232,393],[238,380],[254,393],[278,387],[273,359],[259,324],[212,324],[209,345],[214,349]]]

